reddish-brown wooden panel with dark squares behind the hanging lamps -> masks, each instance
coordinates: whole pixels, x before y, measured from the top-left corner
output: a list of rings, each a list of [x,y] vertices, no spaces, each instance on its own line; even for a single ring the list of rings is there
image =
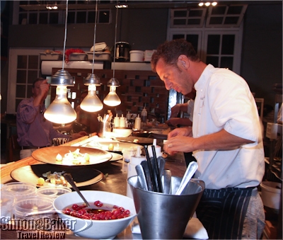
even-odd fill
[[[52,69],[52,75],[57,70],[59,69]],[[88,73],[91,73],[91,69],[68,69],[68,72],[71,76],[74,76],[76,81],[75,86],[69,87],[72,93],[76,93],[75,99],[69,98],[70,102],[74,102],[74,108],[76,108],[80,104],[81,93],[87,91],[87,86],[83,85],[83,79],[86,78]],[[98,97],[103,102],[109,92],[107,83],[112,78],[113,72],[111,69],[100,69],[95,70],[94,73],[98,75],[101,84],[103,84],[97,87]],[[115,78],[120,82],[120,87],[116,91],[122,103],[117,107],[104,105],[103,110],[105,112],[110,109],[112,113],[120,110],[124,115],[128,111],[141,113],[145,105],[148,113],[167,115],[169,92],[157,74],[151,71],[115,70]],[[55,89],[56,86],[52,86],[51,101],[56,96]]]

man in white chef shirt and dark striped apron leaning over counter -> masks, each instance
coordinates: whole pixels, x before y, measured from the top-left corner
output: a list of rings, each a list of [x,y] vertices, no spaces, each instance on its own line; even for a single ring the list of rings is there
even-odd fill
[[[265,213],[257,186],[265,171],[258,109],[246,81],[205,64],[186,40],[160,45],[151,67],[166,89],[197,91],[192,127],[168,134],[169,154],[193,152],[205,183],[197,207],[209,239],[260,239]]]

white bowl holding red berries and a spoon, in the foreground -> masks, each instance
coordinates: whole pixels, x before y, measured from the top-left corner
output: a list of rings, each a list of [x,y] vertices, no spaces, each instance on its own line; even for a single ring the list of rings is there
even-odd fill
[[[129,217],[113,220],[88,220],[71,217],[62,213],[62,210],[74,203],[81,204],[83,200],[76,192],[60,195],[53,202],[54,210],[59,214],[63,222],[64,219],[66,219],[66,222],[76,221],[76,224],[73,224],[74,228],[71,230],[78,236],[90,239],[113,239],[117,234],[122,232],[137,215],[132,198],[116,193],[96,190],[82,190],[81,193],[90,204],[99,200],[105,204],[124,207],[126,210],[130,211],[130,215]]]

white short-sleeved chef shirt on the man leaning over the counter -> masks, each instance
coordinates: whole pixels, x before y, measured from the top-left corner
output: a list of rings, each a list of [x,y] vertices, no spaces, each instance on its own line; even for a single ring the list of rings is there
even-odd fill
[[[248,84],[229,69],[209,64],[195,89],[193,137],[224,129],[254,141],[229,151],[200,149],[193,152],[199,165],[195,177],[204,181],[207,189],[258,185],[265,171],[265,161],[258,108]]]

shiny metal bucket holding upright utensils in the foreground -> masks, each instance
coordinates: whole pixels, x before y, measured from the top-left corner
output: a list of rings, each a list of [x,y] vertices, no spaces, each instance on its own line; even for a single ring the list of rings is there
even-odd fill
[[[173,176],[172,189],[178,188],[181,180]],[[137,176],[128,178],[128,183],[134,197],[142,239],[183,239],[187,222],[202,197],[204,182],[191,179],[183,195],[143,190]]]

